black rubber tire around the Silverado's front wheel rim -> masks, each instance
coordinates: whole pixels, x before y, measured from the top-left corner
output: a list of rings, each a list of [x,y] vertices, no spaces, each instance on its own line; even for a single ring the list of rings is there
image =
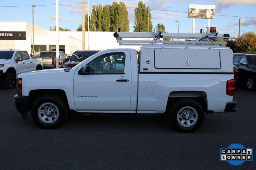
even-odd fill
[[[57,108],[59,111],[58,118],[56,120],[54,120],[53,123],[45,123],[38,116],[39,107],[45,103],[52,103],[58,107]],[[62,98],[60,98],[59,96],[53,95],[53,94],[46,94],[44,96],[40,96],[34,102],[34,104],[32,106],[32,110],[31,110],[31,115],[32,115],[32,119],[38,126],[44,128],[44,129],[56,129],[57,127],[62,125],[62,123],[64,123],[64,121],[66,121],[66,119],[68,117],[68,110],[69,109],[66,105],[66,102],[64,102],[64,100]]]

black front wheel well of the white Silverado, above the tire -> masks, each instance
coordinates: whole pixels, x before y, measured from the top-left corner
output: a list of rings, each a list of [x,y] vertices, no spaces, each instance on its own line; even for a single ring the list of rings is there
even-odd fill
[[[46,95],[46,94],[54,94],[56,96],[59,96],[66,102],[66,104],[69,108],[66,92],[64,90],[60,90],[60,89],[31,90],[28,95],[29,96],[29,107],[30,108],[32,107],[32,105],[34,104],[34,102],[36,101],[37,98],[39,98],[40,96]]]

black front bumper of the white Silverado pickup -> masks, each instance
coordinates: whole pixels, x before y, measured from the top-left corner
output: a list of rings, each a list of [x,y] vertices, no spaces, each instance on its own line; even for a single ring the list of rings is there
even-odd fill
[[[20,96],[16,94],[14,96],[14,103],[15,103],[16,109],[22,115],[22,119],[28,119],[28,111],[29,111],[28,96]]]

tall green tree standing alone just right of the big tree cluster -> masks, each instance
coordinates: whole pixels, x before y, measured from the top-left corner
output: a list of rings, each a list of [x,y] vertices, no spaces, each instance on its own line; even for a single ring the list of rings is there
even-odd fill
[[[152,21],[151,13],[149,7],[143,2],[138,3],[138,7],[134,9],[135,11],[135,21],[134,21],[134,32],[152,32]],[[148,24],[149,23],[149,24]]]

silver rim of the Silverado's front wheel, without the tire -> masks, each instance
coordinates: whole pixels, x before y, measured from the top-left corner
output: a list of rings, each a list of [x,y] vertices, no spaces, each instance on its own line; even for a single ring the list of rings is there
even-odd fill
[[[39,119],[44,123],[54,123],[60,115],[58,107],[50,102],[41,104],[37,113]]]

